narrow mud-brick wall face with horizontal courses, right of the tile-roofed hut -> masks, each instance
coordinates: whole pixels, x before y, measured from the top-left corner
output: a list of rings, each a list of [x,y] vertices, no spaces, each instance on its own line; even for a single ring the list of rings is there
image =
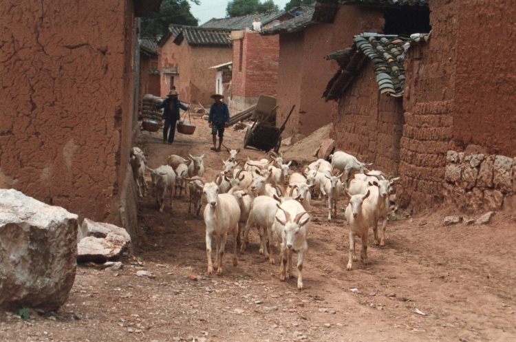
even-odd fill
[[[447,151],[453,148],[458,1],[430,2],[432,36],[405,58],[405,110],[400,141],[400,206],[442,203]]]

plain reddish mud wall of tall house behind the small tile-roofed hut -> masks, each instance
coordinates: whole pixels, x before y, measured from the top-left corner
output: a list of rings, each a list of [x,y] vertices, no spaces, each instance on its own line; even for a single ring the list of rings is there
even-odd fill
[[[281,125],[292,105],[296,105],[289,119],[285,136],[290,133],[308,135],[332,121],[336,104],[321,98],[327,81],[332,78],[338,65],[325,61],[325,56],[350,46],[353,36],[361,32],[381,32],[383,14],[359,6],[341,6],[334,23],[312,25],[301,34],[281,34],[280,76],[278,81],[278,113],[276,122]],[[299,37],[302,36],[300,39]],[[288,43],[293,39],[292,43]],[[283,49],[283,46],[290,45]],[[301,61],[299,61],[301,55]],[[297,66],[294,70],[292,65]],[[290,70],[290,72],[283,72]],[[285,78],[299,74],[299,83],[292,84]],[[297,89],[291,87],[299,87]]]

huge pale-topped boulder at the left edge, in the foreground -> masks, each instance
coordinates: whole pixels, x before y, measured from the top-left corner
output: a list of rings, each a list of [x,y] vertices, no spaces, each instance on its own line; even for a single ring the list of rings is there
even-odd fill
[[[0,308],[57,310],[76,273],[78,217],[0,189]]]

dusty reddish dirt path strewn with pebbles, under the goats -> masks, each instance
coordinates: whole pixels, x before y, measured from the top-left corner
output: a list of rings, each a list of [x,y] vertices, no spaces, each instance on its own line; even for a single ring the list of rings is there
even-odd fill
[[[206,153],[211,178],[227,153],[209,151],[207,123],[195,123],[195,135],[177,134],[173,145],[161,132],[142,133],[150,166],[170,153]],[[226,135],[228,146],[241,145],[242,133]],[[247,156],[262,153],[239,158]],[[513,217],[443,227],[441,211],[389,222],[386,246],[370,247],[370,264],[347,271],[343,213],[329,224],[314,203],[303,291],[279,281],[255,232],[236,268],[228,243],[224,275],[208,277],[204,222],[187,213],[187,197],[158,213],[149,196],[140,200],[138,253],[122,270],[80,266],[63,308],[30,321],[2,314],[0,341],[516,341]]]

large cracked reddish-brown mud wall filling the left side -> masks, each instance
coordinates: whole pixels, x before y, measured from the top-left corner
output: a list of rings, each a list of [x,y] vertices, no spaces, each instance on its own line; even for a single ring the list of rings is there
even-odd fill
[[[119,166],[128,165],[133,125],[131,6],[0,1],[0,187],[120,223],[129,168]]]

